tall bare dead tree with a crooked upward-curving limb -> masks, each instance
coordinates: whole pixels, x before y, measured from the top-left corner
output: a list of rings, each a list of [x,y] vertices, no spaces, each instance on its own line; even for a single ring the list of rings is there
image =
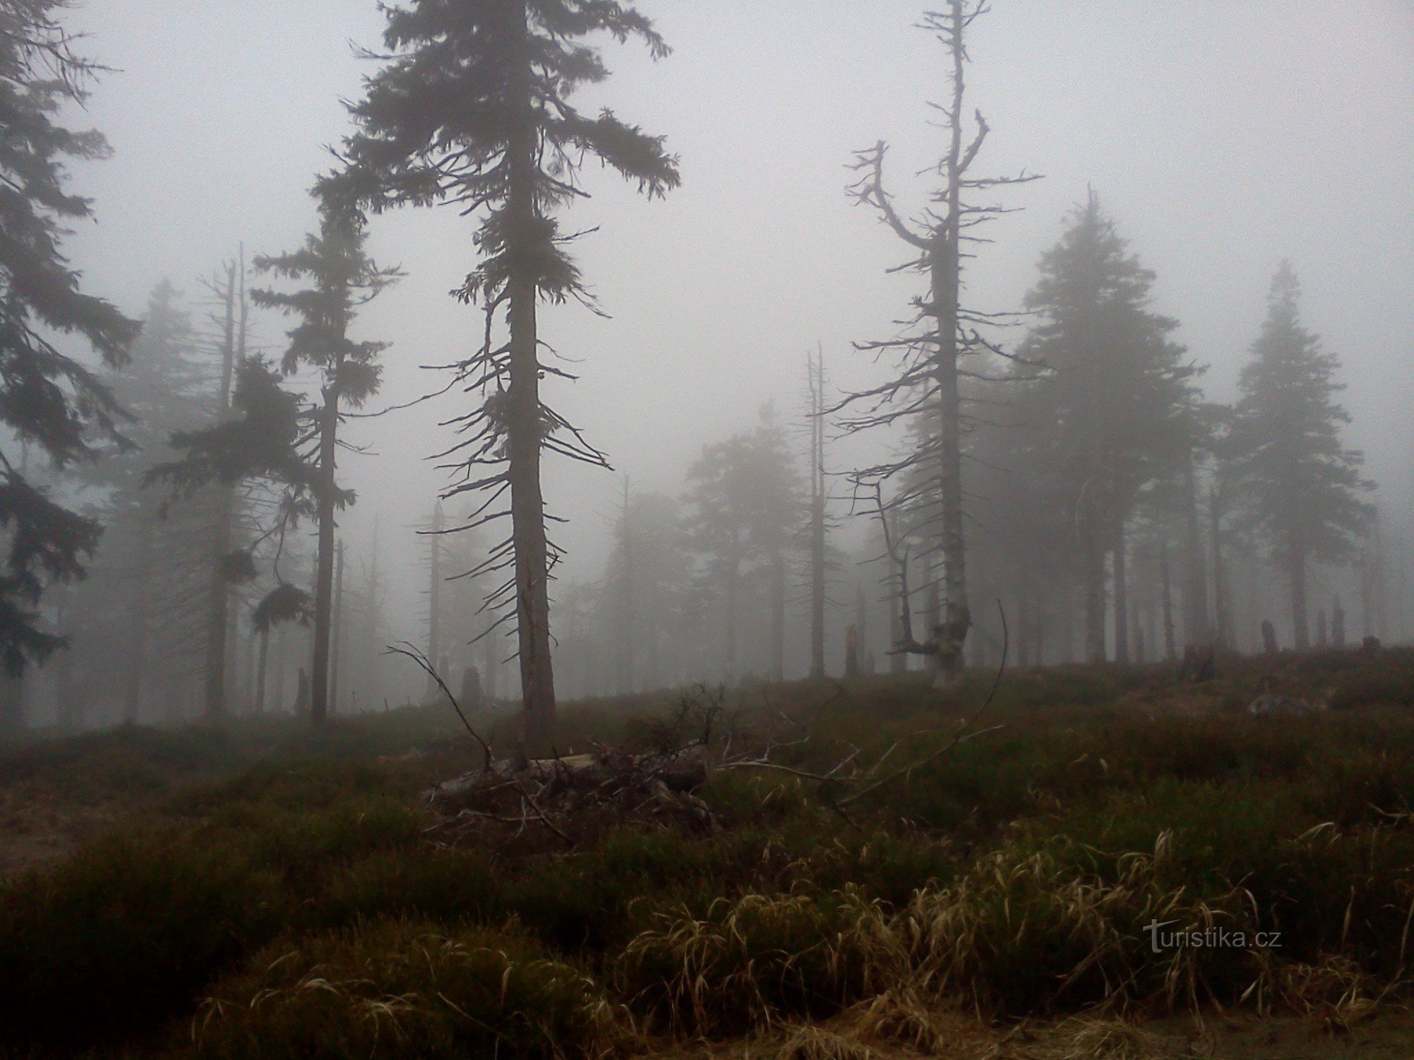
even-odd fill
[[[906,636],[905,643],[895,646],[895,650],[936,657],[937,680],[943,684],[956,678],[967,630],[971,629],[963,531],[960,380],[987,377],[980,372],[964,370],[960,359],[987,353],[1010,356],[980,334],[988,325],[1005,322],[1008,315],[964,308],[959,298],[962,261],[969,256],[962,245],[981,242],[978,236],[970,235],[971,229],[1008,211],[1004,206],[969,202],[964,195],[1036,179],[1025,172],[1017,177],[969,175],[987,139],[988,126],[978,110],[974,112],[970,136],[966,130],[966,40],[971,24],[987,10],[986,0],[952,0],[946,11],[930,11],[921,23],[921,28],[935,34],[943,44],[952,66],[949,99],[935,105],[945,119],[947,146],[937,164],[943,185],[932,194],[932,205],[913,219],[898,212],[885,188],[884,155],[888,148],[882,140],[858,153],[854,168],[861,175],[850,188],[858,202],[877,211],[894,235],[916,252],[916,257],[899,266],[899,270],[912,269],[928,277],[928,290],[913,300],[915,315],[905,322],[899,336],[855,343],[857,349],[877,356],[896,355],[898,372],[877,387],[848,394],[837,410],[853,410],[841,420],[848,431],[895,424],[916,428],[918,444],[911,452],[855,472],[855,483],[878,483],[895,478],[905,482],[904,489],[887,505],[881,502],[881,510],[912,509],[921,513],[926,526],[919,529],[936,541],[936,558],[942,561],[943,578],[942,613],[922,642]],[[919,517],[915,516],[913,522],[919,522]]]

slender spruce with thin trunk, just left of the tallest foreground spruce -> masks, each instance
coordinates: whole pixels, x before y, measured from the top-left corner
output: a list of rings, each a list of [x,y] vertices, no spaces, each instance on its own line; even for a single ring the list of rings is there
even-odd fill
[[[300,318],[290,331],[281,370],[300,367],[320,373],[320,406],[307,438],[312,444],[314,519],[318,531],[314,577],[314,660],[310,670],[310,719],[320,725],[329,709],[329,637],[334,606],[334,531],[337,512],[352,496],[338,485],[338,430],[341,407],[361,407],[379,386],[378,355],[386,342],[349,338],[359,307],[376,298],[402,273],[380,269],[365,252],[359,219],[329,205],[320,209],[320,232],[286,254],[257,257],[257,271],[286,280],[304,280],[297,291],[256,290],[256,305]]]

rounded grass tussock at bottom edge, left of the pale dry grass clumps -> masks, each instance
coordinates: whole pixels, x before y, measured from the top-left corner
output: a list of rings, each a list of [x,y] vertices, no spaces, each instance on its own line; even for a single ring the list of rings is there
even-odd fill
[[[192,1019],[194,1057],[592,1056],[622,1012],[581,968],[515,930],[361,924],[280,941]]]

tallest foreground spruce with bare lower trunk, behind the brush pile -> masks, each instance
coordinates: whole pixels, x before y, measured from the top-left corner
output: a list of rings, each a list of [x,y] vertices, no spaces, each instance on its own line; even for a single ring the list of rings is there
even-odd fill
[[[566,250],[556,212],[585,196],[578,174],[597,157],[649,196],[679,182],[676,158],[609,110],[590,116],[570,102],[608,69],[590,42],[607,34],[667,45],[631,4],[614,0],[414,0],[387,6],[383,68],[352,105],[356,133],[337,194],[368,209],[455,205],[481,216],[477,267],[454,295],[485,310],[479,349],[455,365],[475,403],[457,417],[461,440],[447,458],[447,495],[488,490],[472,523],[509,517],[509,536],[485,570],[510,571],[498,601],[513,601],[526,739],[546,746],[554,725],[550,661],[550,567],[540,454],[607,466],[540,396],[546,375],[568,373],[540,356],[542,300],[592,305]],[[502,338],[503,335],[503,338]],[[509,493],[509,509],[499,500]]]

